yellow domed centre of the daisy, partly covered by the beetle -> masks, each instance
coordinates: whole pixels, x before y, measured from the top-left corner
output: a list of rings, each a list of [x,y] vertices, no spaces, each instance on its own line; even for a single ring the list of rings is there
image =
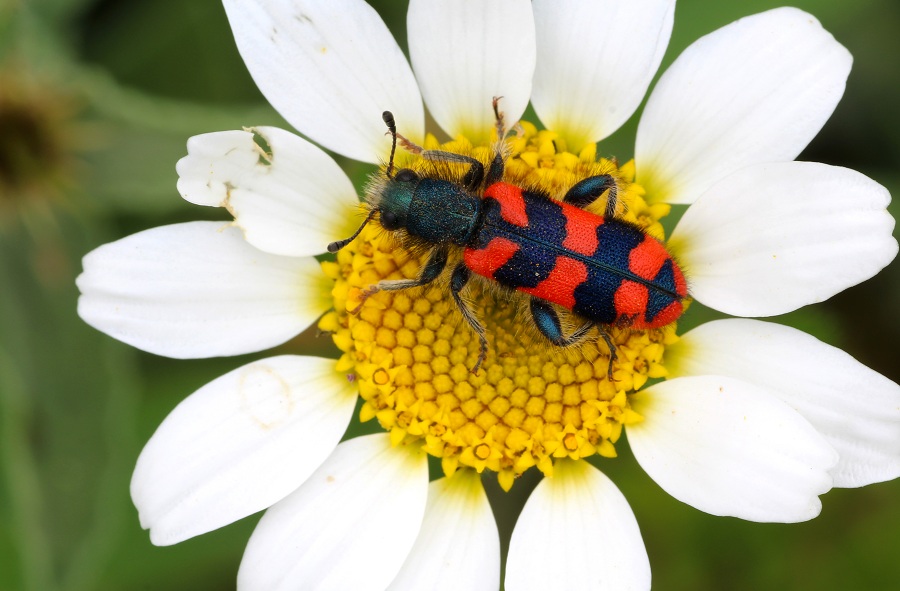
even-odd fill
[[[511,152],[505,179],[537,186],[561,198],[581,179],[612,174],[619,185],[618,215],[662,239],[667,205],[648,205],[634,184],[634,166],[597,159],[596,146],[566,151],[553,132],[523,122],[506,140]],[[488,146],[465,139],[444,145],[429,137],[426,149],[473,154],[487,163]],[[404,166],[416,168],[415,158]],[[512,181],[511,181],[512,182]],[[603,201],[602,199],[600,200]],[[603,203],[597,208],[602,213]],[[498,473],[504,489],[536,466],[550,475],[554,458],[616,455],[624,425],[642,420],[630,394],[648,378],[666,375],[665,345],[676,339],[674,325],[634,331],[607,329],[616,346],[613,381],[610,352],[602,339],[559,348],[529,327],[530,316],[516,294],[470,283],[464,292],[484,324],[487,358],[478,371],[478,338],[463,321],[447,285],[447,272],[425,288],[382,291],[351,314],[366,287],[383,279],[413,279],[427,258],[410,253],[377,225],[323,262],[334,280],[334,311],[319,322],[344,352],[337,369],[355,376],[365,401],[362,421],[377,419],[395,444],[417,443],[441,458],[452,474],[460,466]],[[567,334],[577,325],[570,322]]]

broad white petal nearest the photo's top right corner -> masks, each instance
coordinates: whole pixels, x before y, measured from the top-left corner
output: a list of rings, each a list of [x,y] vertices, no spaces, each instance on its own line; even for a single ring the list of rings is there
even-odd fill
[[[644,108],[638,182],[651,199],[692,203],[739,168],[793,160],[834,111],[852,61],[796,8],[700,38],[663,74]]]

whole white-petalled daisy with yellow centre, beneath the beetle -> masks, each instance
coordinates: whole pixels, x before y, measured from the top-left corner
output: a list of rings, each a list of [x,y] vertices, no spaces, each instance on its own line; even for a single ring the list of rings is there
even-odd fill
[[[506,140],[507,173],[553,196],[610,174],[618,215],[660,239],[669,204],[691,204],[667,245],[698,301],[771,316],[875,275],[897,253],[887,191],[793,161],[851,65],[805,12],[771,10],[696,41],[651,93],[635,161],[596,157],[646,93],[674,4],[412,0],[410,67],[362,0],[225,0],[259,88],[339,154],[385,162],[390,109],[409,140],[487,162],[492,97],[508,121],[531,101],[546,129],[521,123]],[[426,135],[423,99],[451,142]],[[800,331],[747,319],[680,337],[674,324],[613,327],[610,380],[602,340],[548,347],[522,330],[515,301],[475,286],[490,348],[472,374],[478,340],[444,284],[382,292],[348,312],[361,289],[414,278],[423,260],[375,224],[336,261],[312,258],[359,222],[356,190],[320,148],[272,127],[216,132],[191,138],[177,170],[185,199],[226,207],[234,223],[165,226],[96,249],[78,279],[81,316],[177,358],[261,351],[318,318],[342,351],[270,357],[214,380],[138,460],[132,497],[156,544],[268,508],[240,588],[497,589],[500,543],[478,473],[497,472],[508,490],[536,467],[546,478],[513,533],[506,588],[647,589],[635,516],[581,461],[614,457],[623,430],[661,487],[715,515],[803,521],[833,486],[900,475],[900,387]],[[339,443],[357,394],[360,418],[386,432]],[[430,484],[429,454],[447,476]]]

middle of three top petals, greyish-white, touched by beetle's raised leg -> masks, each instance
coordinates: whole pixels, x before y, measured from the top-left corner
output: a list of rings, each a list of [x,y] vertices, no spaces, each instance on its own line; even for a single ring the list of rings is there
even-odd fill
[[[451,136],[487,140],[495,96],[507,125],[525,112],[535,60],[528,0],[412,0],[407,32],[422,96]]]

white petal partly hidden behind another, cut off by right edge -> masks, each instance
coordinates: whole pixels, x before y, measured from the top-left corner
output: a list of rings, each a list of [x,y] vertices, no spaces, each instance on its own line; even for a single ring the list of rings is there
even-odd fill
[[[834,485],[900,477],[900,386],[804,332],[758,320],[708,322],[666,349],[675,375],[731,376],[763,386],[840,454]]]

